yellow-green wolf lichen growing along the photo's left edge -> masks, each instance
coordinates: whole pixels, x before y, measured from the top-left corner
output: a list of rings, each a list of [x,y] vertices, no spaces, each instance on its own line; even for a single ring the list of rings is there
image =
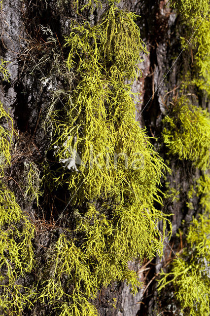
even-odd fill
[[[13,123],[0,104],[0,118],[9,125],[0,125],[0,313],[21,316],[23,308],[32,306],[33,290],[22,284],[34,267],[32,239],[34,226],[17,204],[4,181],[4,171],[11,165]]]

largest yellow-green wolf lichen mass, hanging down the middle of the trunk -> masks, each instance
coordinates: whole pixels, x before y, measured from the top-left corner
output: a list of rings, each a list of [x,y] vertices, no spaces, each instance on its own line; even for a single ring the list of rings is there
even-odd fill
[[[101,286],[126,281],[137,292],[129,260],[163,254],[168,219],[154,201],[162,203],[158,185],[167,167],[135,121],[131,86],[146,52],[135,15],[110,1],[95,26],[73,22],[65,40],[75,86],[65,108],[52,115],[56,162],[43,179],[67,187],[79,210],[72,211],[74,238],[67,230],[49,255],[39,300],[59,316],[95,316],[87,302]]]

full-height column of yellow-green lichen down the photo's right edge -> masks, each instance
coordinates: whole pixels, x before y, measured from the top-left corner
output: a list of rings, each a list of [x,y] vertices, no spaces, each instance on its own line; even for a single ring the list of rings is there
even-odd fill
[[[194,87],[199,95],[210,96],[210,18],[209,1],[173,1],[184,21],[190,37],[187,49],[191,51],[192,69],[185,74],[182,92]],[[183,48],[186,39],[181,38]],[[199,89],[197,89],[197,87]],[[192,95],[192,93],[188,93]],[[188,199],[196,197],[197,218],[193,218],[186,236],[186,245],[176,254],[169,273],[162,273],[158,291],[173,290],[181,306],[182,315],[209,316],[210,295],[210,115],[200,106],[192,105],[187,95],[175,98],[168,116],[163,119],[163,140],[168,154],[186,159],[197,168],[200,177],[191,175]],[[192,170],[192,169],[191,169]],[[192,202],[186,202],[193,209]],[[177,303],[177,302],[175,302]]]

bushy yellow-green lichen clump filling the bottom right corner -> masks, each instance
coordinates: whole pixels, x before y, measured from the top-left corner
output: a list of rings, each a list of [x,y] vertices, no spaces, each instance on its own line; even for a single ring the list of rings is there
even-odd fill
[[[188,316],[209,316],[210,295],[210,218],[209,214],[193,219],[187,246],[174,259],[172,271],[162,273],[158,291],[167,284],[175,287],[175,297],[181,304],[182,312]]]

